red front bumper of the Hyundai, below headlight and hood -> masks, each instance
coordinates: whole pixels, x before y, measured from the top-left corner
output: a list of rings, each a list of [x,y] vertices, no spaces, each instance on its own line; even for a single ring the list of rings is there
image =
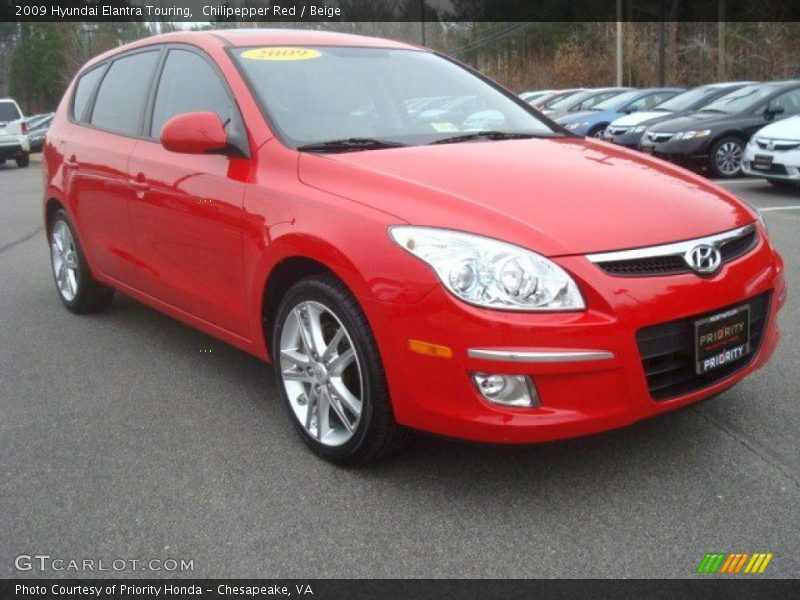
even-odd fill
[[[727,389],[760,368],[779,339],[776,315],[785,302],[783,264],[762,238],[756,248],[712,279],[694,274],[619,278],[585,257],[558,259],[582,288],[582,312],[524,314],[465,305],[442,286],[416,304],[362,298],[381,348],[395,417],[403,425],[448,437],[530,443],[622,427]],[[656,401],[636,343],[644,327],[688,318],[770,292],[759,348],[739,371],[713,385]],[[411,352],[409,339],[452,349],[452,358]],[[534,353],[590,352],[569,360],[519,360],[474,349]],[[602,354],[597,354],[597,353]],[[470,373],[529,375],[540,406],[506,408],[483,400]]]

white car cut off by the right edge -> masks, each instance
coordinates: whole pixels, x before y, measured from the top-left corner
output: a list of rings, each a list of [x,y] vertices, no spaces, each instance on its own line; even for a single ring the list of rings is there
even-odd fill
[[[756,131],[745,147],[742,170],[780,187],[800,184],[800,116]]]

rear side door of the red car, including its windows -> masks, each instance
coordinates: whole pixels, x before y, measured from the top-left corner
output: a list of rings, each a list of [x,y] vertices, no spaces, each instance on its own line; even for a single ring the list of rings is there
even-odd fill
[[[104,65],[81,76],[72,102],[77,125],[64,148],[67,193],[89,262],[128,284],[138,271],[128,214],[133,195],[128,158],[160,52],[125,55],[107,69]]]

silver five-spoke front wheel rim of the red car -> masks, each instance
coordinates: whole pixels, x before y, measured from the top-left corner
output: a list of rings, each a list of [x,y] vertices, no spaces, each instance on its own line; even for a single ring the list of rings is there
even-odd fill
[[[361,420],[364,384],[342,321],[322,303],[305,301],[287,314],[280,336],[281,379],[295,417],[320,443],[347,443]]]

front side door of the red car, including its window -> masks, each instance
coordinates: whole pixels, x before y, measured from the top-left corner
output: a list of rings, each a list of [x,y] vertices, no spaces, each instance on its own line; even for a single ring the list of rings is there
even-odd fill
[[[158,136],[172,117],[216,113],[241,130],[227,85],[199,51],[168,50],[148,131],[131,154],[131,219],[143,269],[137,288],[249,337],[242,266],[242,203],[249,160],[167,151]]]

